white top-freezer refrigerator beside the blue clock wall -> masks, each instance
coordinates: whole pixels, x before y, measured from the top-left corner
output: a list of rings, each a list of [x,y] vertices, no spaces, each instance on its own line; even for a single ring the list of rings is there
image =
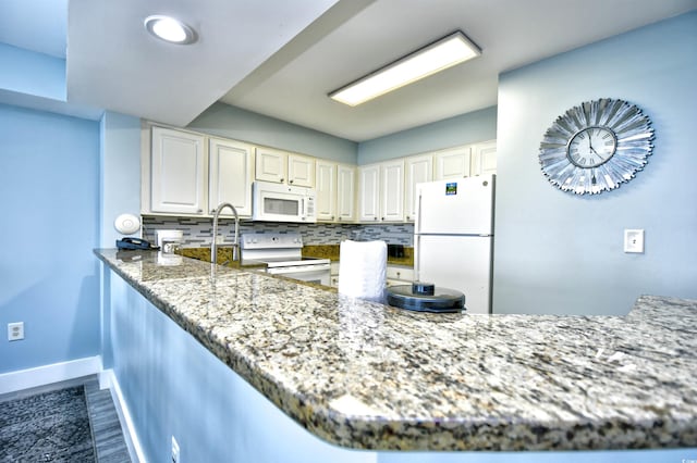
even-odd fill
[[[496,175],[417,184],[414,271],[465,295],[467,313],[491,313]]]

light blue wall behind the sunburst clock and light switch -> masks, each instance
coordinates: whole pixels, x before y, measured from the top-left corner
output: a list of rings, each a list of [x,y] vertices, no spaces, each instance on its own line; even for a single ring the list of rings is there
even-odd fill
[[[643,293],[697,298],[697,13],[500,76],[493,311],[623,314]],[[653,121],[653,155],[600,196],[552,187],[539,143],[583,101],[619,98]],[[646,252],[625,254],[623,230]]]

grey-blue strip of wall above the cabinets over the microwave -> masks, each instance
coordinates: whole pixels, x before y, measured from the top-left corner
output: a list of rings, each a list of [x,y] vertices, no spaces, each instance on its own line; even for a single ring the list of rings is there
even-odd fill
[[[216,103],[188,126],[219,137],[280,148],[348,164],[356,163],[357,145],[229,104]]]

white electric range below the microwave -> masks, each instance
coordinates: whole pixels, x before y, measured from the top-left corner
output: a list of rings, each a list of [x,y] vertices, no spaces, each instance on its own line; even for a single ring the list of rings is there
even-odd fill
[[[330,260],[303,258],[303,237],[298,233],[243,234],[242,265],[261,262],[267,273],[301,281],[330,285]]]

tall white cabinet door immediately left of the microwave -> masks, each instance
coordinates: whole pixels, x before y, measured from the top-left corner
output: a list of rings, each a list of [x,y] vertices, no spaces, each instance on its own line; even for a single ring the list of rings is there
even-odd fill
[[[241,216],[252,215],[252,182],[254,180],[254,147],[234,140],[211,138],[209,152],[209,212],[229,202]],[[232,216],[230,209],[222,215]]]

